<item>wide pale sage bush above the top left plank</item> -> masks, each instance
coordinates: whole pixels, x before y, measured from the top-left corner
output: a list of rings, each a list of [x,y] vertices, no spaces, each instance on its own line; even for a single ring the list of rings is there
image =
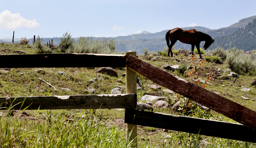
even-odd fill
[[[79,54],[119,54],[113,39],[93,40],[92,37],[80,37],[74,48],[69,48],[68,53]]]

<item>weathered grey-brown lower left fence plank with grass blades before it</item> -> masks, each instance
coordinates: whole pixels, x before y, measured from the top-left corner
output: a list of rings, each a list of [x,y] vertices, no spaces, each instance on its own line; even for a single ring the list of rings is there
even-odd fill
[[[47,96],[47,97],[0,97],[0,104],[8,108],[12,102],[13,109],[99,109],[99,108],[136,108],[136,94],[104,94],[104,95],[76,95],[76,96]]]

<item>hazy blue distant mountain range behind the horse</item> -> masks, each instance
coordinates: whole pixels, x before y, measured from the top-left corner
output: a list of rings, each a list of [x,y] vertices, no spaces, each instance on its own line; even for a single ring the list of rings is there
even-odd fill
[[[209,47],[209,49],[214,49],[217,46],[221,46],[224,49],[232,48],[232,45],[236,45],[237,48],[243,49],[244,51],[249,50],[249,48],[245,48],[245,46],[240,47],[239,44],[235,44],[238,42],[238,34],[237,31],[240,32],[239,35],[245,35],[247,33],[242,34],[244,31],[250,32],[251,30],[245,29],[246,26],[248,26],[248,23],[253,23],[253,20],[256,19],[256,15],[252,17],[247,17],[244,19],[239,20],[238,23],[234,23],[228,27],[225,28],[219,28],[219,29],[209,29],[202,26],[195,26],[195,27],[184,27],[182,29],[189,30],[189,29],[196,29],[198,31],[202,31],[206,34],[209,34],[212,38],[215,39],[215,43],[212,44],[212,46]],[[253,28],[252,25],[250,28]],[[172,28],[169,28],[172,29]],[[119,36],[119,37],[93,37],[94,40],[101,40],[103,38],[113,39],[116,42],[116,50],[121,52],[126,51],[137,51],[137,54],[143,54],[142,50],[143,48],[147,48],[148,51],[154,51],[157,52],[159,50],[163,50],[163,47],[166,47],[166,40],[165,35],[166,32],[169,30],[164,30],[156,33],[150,33],[148,31],[143,31],[139,34],[131,34],[128,36]],[[236,36],[234,36],[236,34]],[[256,37],[256,32],[251,31],[250,33],[254,37]],[[247,34],[248,35],[248,34]],[[228,38],[226,40],[226,38]],[[245,40],[247,37],[239,37],[239,39],[243,39],[243,45],[244,44],[250,44],[250,49],[256,49],[254,48],[251,43],[246,43],[247,40]],[[54,37],[54,38],[43,38],[44,41],[48,42],[49,40],[53,39],[54,44],[58,44],[61,40],[61,37]],[[77,40],[78,38],[76,38]],[[224,43],[224,39],[227,43]],[[249,39],[249,38],[247,38]],[[250,39],[252,41],[253,39]],[[32,39],[29,39],[30,43],[32,43]],[[236,42],[234,42],[236,40]],[[233,44],[230,44],[233,43]],[[240,43],[240,42],[239,42]],[[201,42],[200,47],[202,47],[204,42]],[[180,41],[177,41],[175,43],[175,49],[188,49],[191,50],[191,45],[181,43]]]

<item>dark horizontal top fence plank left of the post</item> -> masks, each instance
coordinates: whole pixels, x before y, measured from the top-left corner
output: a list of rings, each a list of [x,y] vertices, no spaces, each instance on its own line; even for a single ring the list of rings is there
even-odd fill
[[[0,55],[0,68],[125,67],[122,54]]]

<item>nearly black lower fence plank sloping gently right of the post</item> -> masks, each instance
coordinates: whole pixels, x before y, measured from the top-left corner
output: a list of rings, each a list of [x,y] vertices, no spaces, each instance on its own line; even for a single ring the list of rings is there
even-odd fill
[[[125,109],[125,123],[212,137],[256,142],[256,131],[242,124]],[[200,132],[199,132],[200,131]]]

